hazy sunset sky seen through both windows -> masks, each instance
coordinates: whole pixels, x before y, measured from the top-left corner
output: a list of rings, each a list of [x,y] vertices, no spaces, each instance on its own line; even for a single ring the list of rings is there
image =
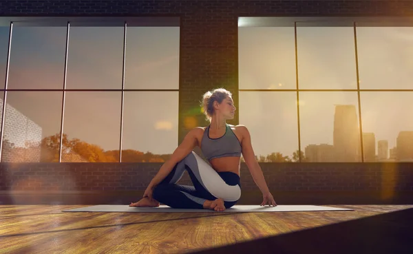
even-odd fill
[[[9,28],[0,28],[4,81]],[[356,89],[353,28],[297,28],[301,89]],[[179,28],[128,28],[125,88],[178,89]],[[63,87],[65,27],[14,27],[8,88]],[[294,28],[239,29],[240,89],[295,89]],[[361,89],[411,89],[413,28],[357,28]],[[120,89],[123,27],[71,27],[68,89]],[[255,154],[298,149],[296,92],[240,92],[240,124]],[[120,92],[67,92],[64,132],[118,149]],[[363,132],[396,145],[413,130],[413,92],[361,92]],[[8,103],[43,128],[60,131],[61,92],[8,92]],[[357,92],[299,92],[301,149],[332,145],[334,105],[358,107]],[[357,112],[358,115],[358,112]],[[6,115],[7,117],[7,115]],[[178,145],[178,92],[125,92],[123,149],[171,154]]]

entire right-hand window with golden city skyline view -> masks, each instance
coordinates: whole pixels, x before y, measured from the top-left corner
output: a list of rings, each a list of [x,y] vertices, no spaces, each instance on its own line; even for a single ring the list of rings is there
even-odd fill
[[[413,161],[413,28],[398,22],[240,18],[240,123],[259,161]]]

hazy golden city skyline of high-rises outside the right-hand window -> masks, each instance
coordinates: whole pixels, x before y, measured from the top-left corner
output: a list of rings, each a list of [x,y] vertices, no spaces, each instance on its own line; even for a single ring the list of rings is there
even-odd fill
[[[389,147],[388,140],[377,140],[374,132],[361,133],[358,122],[355,105],[335,105],[333,143],[301,149],[306,162],[361,162],[362,156],[365,162],[413,160],[413,129],[399,131],[396,145]]]

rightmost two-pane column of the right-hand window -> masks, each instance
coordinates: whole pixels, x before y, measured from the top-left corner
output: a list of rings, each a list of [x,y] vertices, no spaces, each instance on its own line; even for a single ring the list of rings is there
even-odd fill
[[[411,162],[413,27],[357,28],[357,46],[364,156]]]

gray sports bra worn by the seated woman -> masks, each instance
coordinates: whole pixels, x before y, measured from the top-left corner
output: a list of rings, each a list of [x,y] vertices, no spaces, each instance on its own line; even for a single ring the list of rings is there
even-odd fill
[[[201,150],[207,160],[211,160],[221,157],[240,157],[242,147],[240,140],[238,140],[231,127],[227,124],[225,134],[220,138],[209,138],[208,126],[202,136]]]

